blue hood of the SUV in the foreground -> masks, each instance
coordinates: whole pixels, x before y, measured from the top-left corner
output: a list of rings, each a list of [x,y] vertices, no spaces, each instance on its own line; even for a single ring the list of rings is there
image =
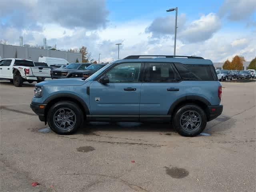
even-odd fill
[[[81,78],[64,78],[45,80],[40,83],[37,83],[36,86],[81,86],[85,83],[86,80]]]

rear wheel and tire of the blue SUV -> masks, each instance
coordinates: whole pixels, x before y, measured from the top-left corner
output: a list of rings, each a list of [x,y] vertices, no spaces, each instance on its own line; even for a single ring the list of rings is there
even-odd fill
[[[193,122],[193,119],[195,120],[194,122]],[[190,124],[189,121],[194,123],[194,125],[192,123]],[[189,136],[189,137],[197,136],[206,127],[206,124],[207,124],[206,113],[204,112],[204,110],[202,110],[202,108],[200,108],[195,104],[186,104],[184,106],[181,106],[175,112],[172,124],[176,129],[176,131],[182,136]],[[184,128],[184,126],[186,126],[186,128]]]

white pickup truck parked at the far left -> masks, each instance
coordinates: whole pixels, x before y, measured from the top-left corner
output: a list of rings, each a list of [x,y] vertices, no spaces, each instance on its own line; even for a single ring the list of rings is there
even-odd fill
[[[16,87],[21,87],[23,82],[41,82],[50,77],[50,67],[35,66],[32,60],[16,58],[0,60],[0,79],[10,80]]]

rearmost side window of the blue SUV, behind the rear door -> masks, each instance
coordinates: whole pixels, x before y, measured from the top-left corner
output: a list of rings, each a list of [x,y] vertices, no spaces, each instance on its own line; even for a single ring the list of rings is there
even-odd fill
[[[175,64],[184,81],[217,81],[218,77],[214,66],[197,64]]]

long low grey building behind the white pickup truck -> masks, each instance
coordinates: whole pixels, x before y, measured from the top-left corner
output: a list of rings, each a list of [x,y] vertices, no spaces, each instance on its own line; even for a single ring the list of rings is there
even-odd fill
[[[43,56],[62,58],[70,63],[76,62],[76,59],[82,62],[80,53],[0,44],[0,58],[21,58],[38,62],[38,58]]]

